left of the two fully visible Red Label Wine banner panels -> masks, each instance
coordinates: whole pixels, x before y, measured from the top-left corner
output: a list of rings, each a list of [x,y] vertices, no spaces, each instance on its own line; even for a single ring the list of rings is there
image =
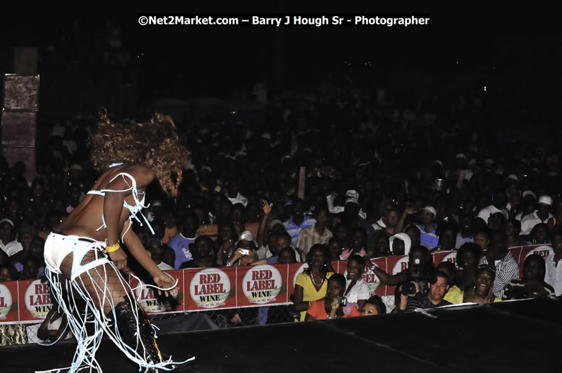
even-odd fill
[[[184,270],[185,311],[208,311],[237,305],[238,267]]]

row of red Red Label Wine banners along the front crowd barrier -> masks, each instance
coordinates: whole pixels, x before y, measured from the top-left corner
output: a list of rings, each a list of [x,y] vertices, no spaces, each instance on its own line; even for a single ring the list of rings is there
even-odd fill
[[[520,277],[523,276],[523,263],[527,256],[539,254],[547,258],[554,255],[549,244],[512,247],[510,252],[519,262]],[[431,255],[435,265],[442,261],[456,263],[456,251],[435,251]],[[389,275],[408,268],[408,256],[387,256],[371,262]],[[333,261],[331,265],[334,272],[347,275],[347,261]],[[134,275],[129,275],[129,284],[148,314],[259,307],[291,302],[296,277],[306,268],[307,263],[293,263],[169,270],[166,272],[178,279],[178,295],[171,302],[163,302],[156,289],[139,286],[140,280]],[[366,270],[363,279],[369,285],[371,295],[394,296],[394,286],[382,285],[372,271]],[[45,319],[50,307],[50,286],[46,280],[0,284],[0,323],[38,323]]]

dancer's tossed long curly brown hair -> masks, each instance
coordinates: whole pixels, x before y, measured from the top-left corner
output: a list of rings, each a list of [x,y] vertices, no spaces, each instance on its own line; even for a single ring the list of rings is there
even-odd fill
[[[126,126],[111,122],[107,110],[101,108],[98,128],[89,137],[89,144],[92,165],[98,172],[105,172],[115,162],[141,164],[154,172],[168,195],[178,194],[189,152],[168,115],[154,114],[148,123]]]

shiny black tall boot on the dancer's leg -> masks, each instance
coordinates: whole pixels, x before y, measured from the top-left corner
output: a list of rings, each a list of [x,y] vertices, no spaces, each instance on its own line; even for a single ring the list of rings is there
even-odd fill
[[[135,307],[138,312],[138,322],[135,317],[135,310],[131,307],[129,300],[124,300],[115,306],[117,328],[119,328],[120,335],[131,349],[134,349],[137,345],[138,339],[138,349],[136,352],[140,356],[144,356],[147,363],[161,363],[162,356],[156,344],[156,339],[154,339],[154,330],[150,325],[146,312],[137,302],[135,302]],[[112,315],[113,313],[110,312],[108,317],[111,318],[113,317]],[[151,369],[148,372],[155,373],[160,372],[160,370]]]

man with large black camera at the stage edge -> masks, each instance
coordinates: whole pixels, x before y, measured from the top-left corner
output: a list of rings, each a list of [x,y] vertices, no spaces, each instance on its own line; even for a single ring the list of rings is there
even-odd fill
[[[410,281],[401,286],[400,305],[398,312],[414,311],[417,308],[433,308],[450,305],[443,300],[449,290],[449,277],[445,272],[437,271],[428,281],[429,291],[421,293],[419,281]]]

